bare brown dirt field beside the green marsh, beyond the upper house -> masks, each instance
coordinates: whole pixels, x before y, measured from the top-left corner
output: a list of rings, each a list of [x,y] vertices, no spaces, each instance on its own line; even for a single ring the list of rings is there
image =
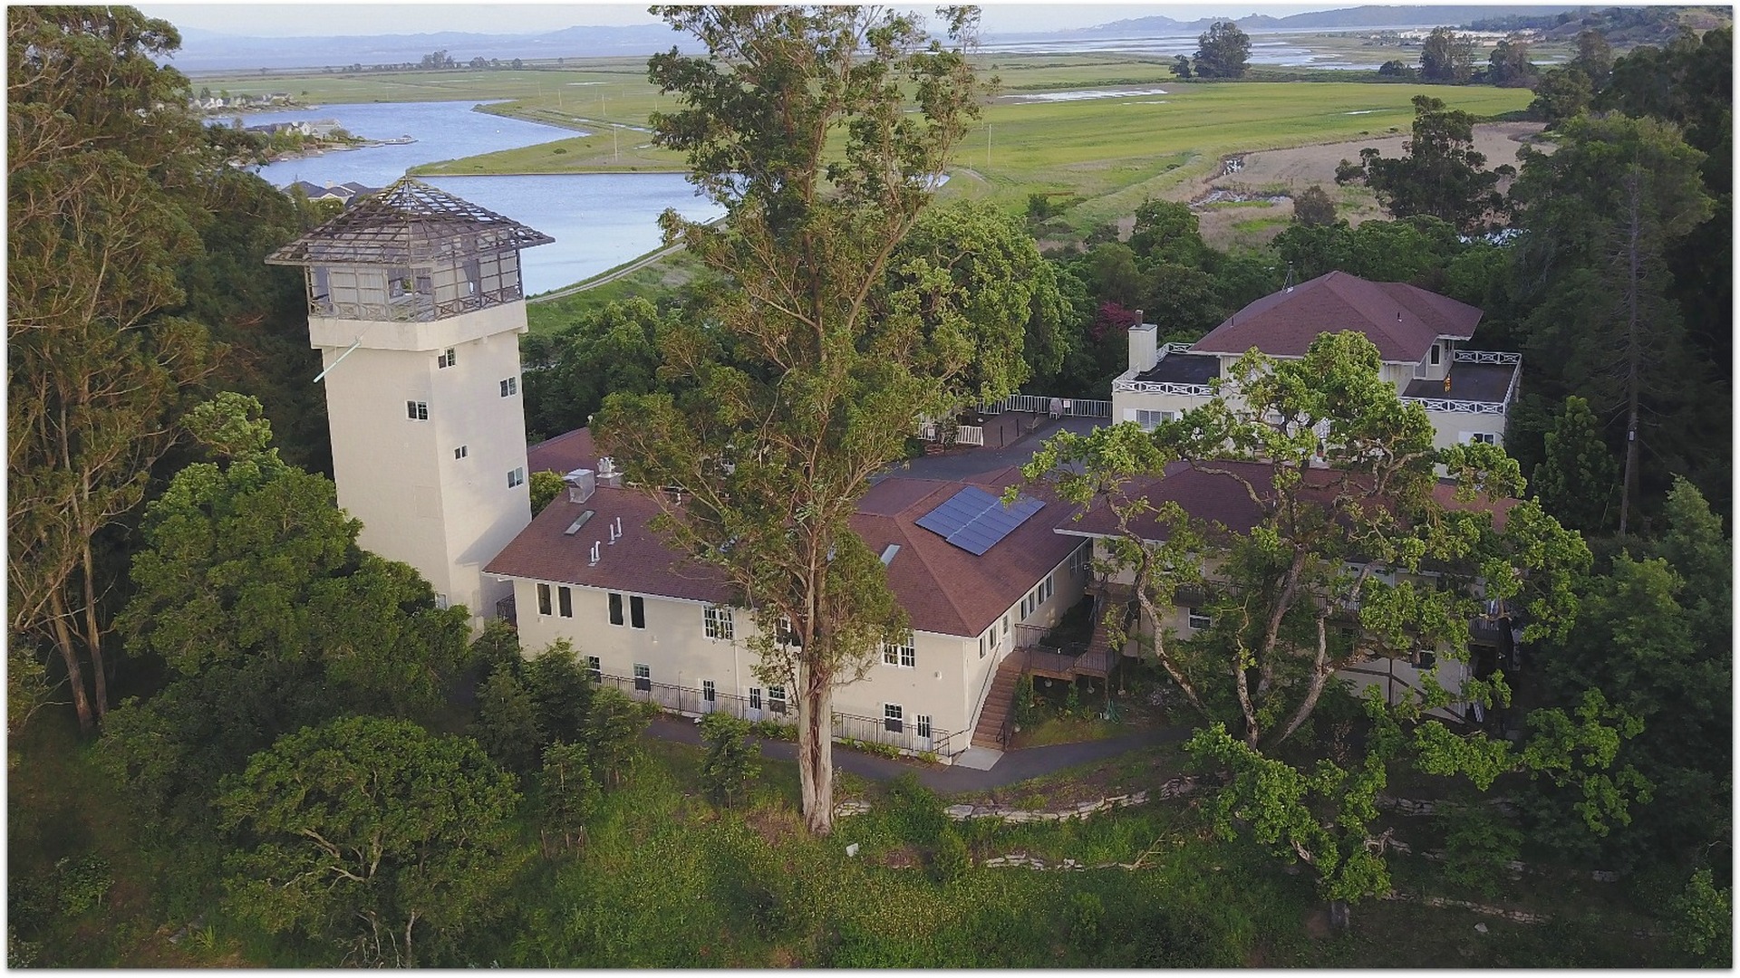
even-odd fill
[[[1486,153],[1486,165],[1516,165],[1517,150],[1522,141],[1542,131],[1538,122],[1493,122],[1474,127],[1474,146]],[[1321,184],[1340,207],[1343,218],[1357,224],[1371,218],[1382,218],[1383,211],[1362,186],[1336,186],[1335,167],[1342,160],[1357,160],[1359,151],[1375,146],[1385,157],[1401,157],[1406,134],[1390,134],[1383,139],[1357,139],[1352,143],[1324,143],[1321,146],[1298,146],[1293,150],[1270,150],[1249,153],[1237,172],[1199,179],[1180,184],[1168,197],[1173,200],[1199,200],[1215,190],[1237,195],[1288,195]],[[1542,150],[1552,150],[1542,144]],[[1199,211],[1202,237],[1215,247],[1260,245],[1281,233],[1293,218],[1293,202],[1279,200],[1272,204],[1237,202],[1211,204]]]

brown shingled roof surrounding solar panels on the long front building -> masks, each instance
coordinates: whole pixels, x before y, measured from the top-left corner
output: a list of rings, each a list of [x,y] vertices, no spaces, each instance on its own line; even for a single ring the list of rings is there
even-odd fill
[[[988,475],[1013,473],[1000,470]],[[962,486],[976,484],[1000,494],[1004,482],[987,477],[971,482],[889,477],[865,496],[851,520],[853,531],[877,553],[891,543],[900,545],[889,562],[889,586],[915,630],[962,637],[985,632],[1081,545],[1054,533],[1074,508],[1044,489],[1030,492],[1046,506],[981,557],[914,522]],[[562,531],[585,510],[593,510],[593,517],[579,533],[566,536]],[[484,571],[717,604],[738,600],[724,574],[686,559],[647,529],[656,513],[658,503],[640,489],[599,487],[586,503],[569,503],[564,492]],[[611,545],[607,527],[618,517],[623,538]],[[597,566],[590,566],[593,541],[606,541]]]

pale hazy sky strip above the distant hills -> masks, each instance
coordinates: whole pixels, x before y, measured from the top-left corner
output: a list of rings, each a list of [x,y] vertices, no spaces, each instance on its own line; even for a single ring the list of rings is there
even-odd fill
[[[1270,14],[1354,7],[1342,3],[983,3],[985,33],[1086,28],[1108,21],[1166,14],[1180,21],[1211,16]],[[177,28],[245,37],[414,35],[432,31],[543,33],[572,26],[651,24],[646,3],[137,3]],[[920,7],[929,10],[931,7]]]

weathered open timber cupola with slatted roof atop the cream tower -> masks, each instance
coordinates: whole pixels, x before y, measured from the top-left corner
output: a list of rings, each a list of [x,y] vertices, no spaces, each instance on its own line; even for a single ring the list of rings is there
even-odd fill
[[[308,315],[428,322],[524,298],[520,249],[555,238],[400,178],[271,252],[308,277]]]

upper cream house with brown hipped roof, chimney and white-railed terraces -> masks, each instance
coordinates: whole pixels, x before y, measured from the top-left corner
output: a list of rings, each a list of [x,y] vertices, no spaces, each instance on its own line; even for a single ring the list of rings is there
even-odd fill
[[[1248,350],[1300,358],[1322,332],[1352,329],[1378,348],[1383,379],[1422,405],[1434,444],[1505,444],[1522,357],[1470,350],[1481,310],[1402,282],[1329,271],[1263,296],[1195,343],[1159,346],[1157,327],[1129,329],[1129,367],[1112,381],[1112,418],[1152,428],[1208,404],[1209,381]]]

